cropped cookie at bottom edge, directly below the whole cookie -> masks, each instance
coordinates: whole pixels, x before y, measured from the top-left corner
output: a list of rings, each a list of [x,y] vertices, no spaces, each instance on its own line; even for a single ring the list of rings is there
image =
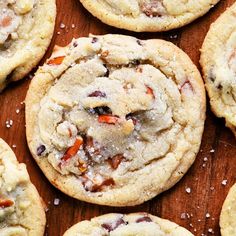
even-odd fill
[[[63,236],[193,236],[185,228],[148,213],[106,214],[72,226]]]

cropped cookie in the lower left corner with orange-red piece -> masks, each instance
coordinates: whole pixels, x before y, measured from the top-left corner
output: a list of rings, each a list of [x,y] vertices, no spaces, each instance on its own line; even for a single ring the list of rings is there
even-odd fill
[[[0,139],[0,235],[43,236],[46,217],[41,198],[24,164]]]

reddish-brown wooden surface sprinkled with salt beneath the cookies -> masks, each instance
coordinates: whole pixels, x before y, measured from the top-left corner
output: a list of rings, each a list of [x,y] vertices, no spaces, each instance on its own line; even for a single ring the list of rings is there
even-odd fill
[[[142,39],[170,40],[188,53],[193,62],[199,66],[199,49],[210,24],[233,2],[234,0],[221,0],[204,17],[179,30],[167,33],[132,33],[101,23],[86,11],[78,0],[58,0],[55,34],[45,58],[50,55],[55,44],[64,46],[73,37],[87,36],[89,33],[122,33]],[[61,23],[64,23],[66,28],[61,29]],[[75,25],[75,28],[72,24]],[[18,160],[26,163],[31,180],[48,207],[45,235],[60,236],[74,223],[104,213],[136,211],[147,211],[167,218],[186,227],[194,235],[220,235],[218,225],[221,206],[230,186],[236,180],[236,141],[230,130],[225,128],[224,121],[214,117],[209,110],[209,104],[201,150],[192,168],[176,186],[140,206],[103,207],[67,197],[47,181],[33,161],[25,139],[24,105],[22,103],[29,83],[30,79],[26,78],[12,84],[0,94],[0,137],[11,146],[16,145],[13,150]],[[17,109],[20,110],[18,114]],[[10,129],[6,128],[7,120],[13,120],[13,126]],[[214,150],[214,152],[210,152],[210,150]],[[223,180],[227,180],[226,185],[222,185]],[[186,193],[188,187],[191,188],[190,194]],[[60,199],[58,206],[53,204],[55,198]],[[182,213],[188,213],[189,215],[185,215],[189,217],[181,219]],[[209,218],[206,218],[207,213],[210,214]],[[184,215],[182,214],[182,216]],[[214,233],[209,233],[209,229],[210,231],[212,229]]]

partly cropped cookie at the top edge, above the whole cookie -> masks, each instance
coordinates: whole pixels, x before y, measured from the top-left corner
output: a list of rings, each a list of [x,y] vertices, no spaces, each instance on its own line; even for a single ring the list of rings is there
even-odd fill
[[[167,31],[208,12],[219,0],[80,0],[102,22],[131,31]]]

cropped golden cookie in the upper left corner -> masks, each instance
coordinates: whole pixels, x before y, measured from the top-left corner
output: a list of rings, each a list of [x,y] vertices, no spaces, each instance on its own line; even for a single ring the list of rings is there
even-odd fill
[[[55,0],[0,1],[0,91],[43,57],[53,34]]]

